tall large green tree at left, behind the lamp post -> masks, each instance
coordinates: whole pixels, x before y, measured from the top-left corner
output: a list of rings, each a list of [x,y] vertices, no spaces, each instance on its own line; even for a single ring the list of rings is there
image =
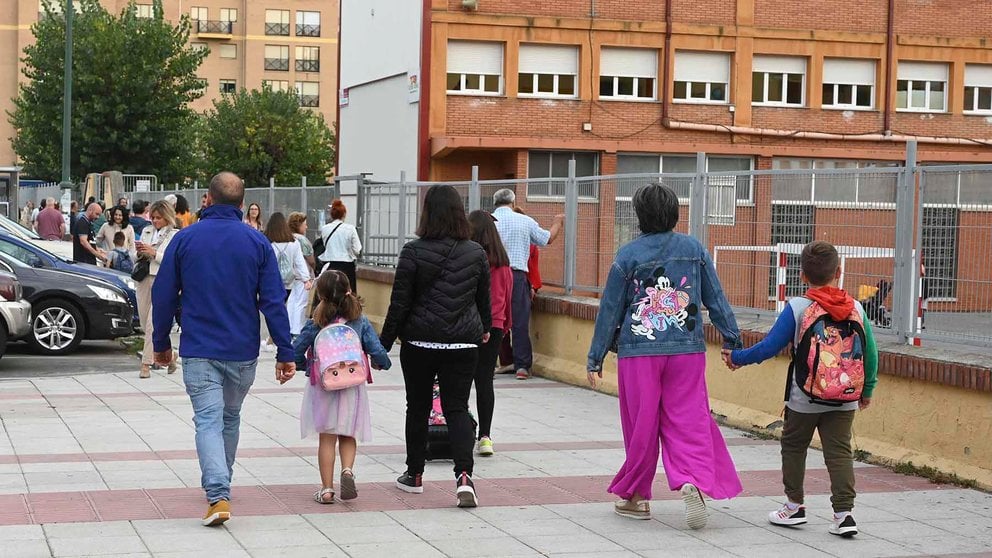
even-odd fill
[[[155,174],[163,181],[189,176],[192,127],[189,103],[203,96],[196,71],[205,51],[187,46],[190,22],[137,17],[132,3],[117,16],[99,0],[82,0],[73,19],[71,175],[118,170]],[[61,174],[65,18],[44,0],[45,15],[32,26],[35,43],[24,49],[28,81],[8,116],[11,138],[25,172]]]

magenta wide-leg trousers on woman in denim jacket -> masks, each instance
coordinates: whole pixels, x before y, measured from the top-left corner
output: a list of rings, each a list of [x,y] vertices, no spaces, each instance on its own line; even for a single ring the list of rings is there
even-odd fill
[[[670,489],[692,483],[714,499],[740,494],[734,461],[710,416],[705,353],[626,357],[617,368],[627,457],[609,492],[650,500],[660,442]]]

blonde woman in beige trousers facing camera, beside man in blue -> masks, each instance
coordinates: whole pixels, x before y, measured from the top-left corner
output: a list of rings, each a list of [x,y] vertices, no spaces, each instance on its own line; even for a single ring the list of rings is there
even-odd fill
[[[135,269],[148,266],[148,275],[138,281],[138,316],[141,329],[145,332],[145,349],[141,352],[141,373],[139,378],[150,378],[151,367],[155,363],[152,351],[152,285],[158,275],[158,267],[165,257],[165,249],[176,234],[176,211],[167,201],[157,201],[149,210],[152,224],[141,231],[141,239],[136,243],[138,264]],[[142,264],[142,262],[147,262]],[[132,275],[134,276],[134,275]],[[169,364],[169,374],[176,371],[176,360]]]

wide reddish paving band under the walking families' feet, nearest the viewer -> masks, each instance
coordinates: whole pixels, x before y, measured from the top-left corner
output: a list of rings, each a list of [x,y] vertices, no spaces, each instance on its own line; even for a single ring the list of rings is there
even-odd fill
[[[901,475],[880,467],[856,470],[858,492],[908,492],[954,488],[929,480]],[[781,472],[745,471],[742,496],[778,496],[782,493]],[[479,499],[485,506],[527,506],[610,502],[606,493],[609,476],[477,479]],[[286,515],[438,509],[455,501],[454,482],[426,482],[424,494],[407,494],[392,483],[360,483],[360,496],[332,506],[313,501],[315,485],[236,486],[232,506],[236,515]],[[807,470],[807,494],[829,494],[825,469]],[[655,500],[677,500],[663,475],[655,481]],[[137,519],[194,519],[204,511],[199,488],[148,490],[98,490],[52,494],[0,495],[0,525],[52,522],[124,521]]]

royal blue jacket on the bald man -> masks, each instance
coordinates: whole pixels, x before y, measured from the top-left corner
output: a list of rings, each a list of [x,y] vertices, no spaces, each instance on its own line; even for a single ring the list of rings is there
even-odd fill
[[[172,346],[169,331],[181,303],[183,358],[258,358],[261,311],[276,359],[293,362],[286,289],[275,252],[241,215],[236,207],[212,205],[169,243],[152,286],[156,352]]]

